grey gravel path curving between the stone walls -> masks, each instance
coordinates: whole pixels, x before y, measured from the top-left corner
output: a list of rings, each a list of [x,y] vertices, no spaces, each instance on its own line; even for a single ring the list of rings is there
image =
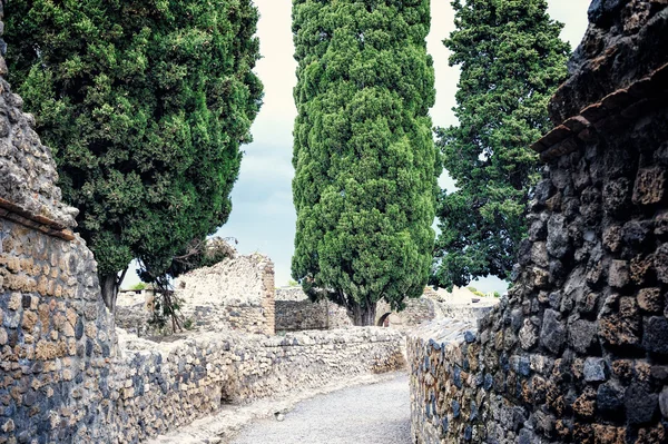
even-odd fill
[[[244,427],[232,444],[410,444],[405,375],[316,396],[285,414]]]

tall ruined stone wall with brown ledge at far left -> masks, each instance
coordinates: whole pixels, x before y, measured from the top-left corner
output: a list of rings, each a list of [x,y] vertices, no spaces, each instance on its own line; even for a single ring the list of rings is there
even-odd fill
[[[92,254],[71,231],[77,210],[60,201],[21,106],[0,78],[0,443],[72,442],[105,422],[114,326]]]

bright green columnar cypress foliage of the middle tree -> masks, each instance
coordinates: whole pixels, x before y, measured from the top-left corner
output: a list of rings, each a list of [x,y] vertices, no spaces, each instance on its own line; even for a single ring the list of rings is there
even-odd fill
[[[428,280],[440,174],[429,27],[429,0],[293,1],[292,274],[356,323]]]

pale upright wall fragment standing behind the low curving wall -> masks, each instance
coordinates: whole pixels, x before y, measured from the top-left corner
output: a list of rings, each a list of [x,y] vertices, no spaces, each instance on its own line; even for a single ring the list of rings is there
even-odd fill
[[[263,255],[235,255],[175,282],[181,314],[206,330],[274,334],[274,264]]]

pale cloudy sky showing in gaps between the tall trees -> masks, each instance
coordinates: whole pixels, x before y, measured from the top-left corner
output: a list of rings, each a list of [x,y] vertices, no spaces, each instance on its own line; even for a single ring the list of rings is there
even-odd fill
[[[550,16],[566,23],[562,38],[574,48],[587,28],[588,0],[548,0]],[[296,83],[293,59],[292,1],[255,0],[259,8],[258,37],[263,59],[256,72],[265,86],[264,106],[253,125],[254,142],[245,146],[239,179],[232,194],[233,211],[218,236],[238,240],[242,254],[261,251],[275,264],[276,286],[291,278],[294,250],[295,210],[292,203],[292,130],[296,116],[292,91]],[[454,29],[450,0],[432,0],[432,29],[428,49],[434,58],[436,103],[431,110],[434,126],[456,124],[452,107],[459,80],[459,69],[448,66],[449,51],[442,45]],[[444,175],[443,188],[452,182]],[[130,270],[131,272],[131,270]],[[128,273],[126,285],[138,282]],[[471,285],[483,292],[503,289],[497,278],[485,278]]]

